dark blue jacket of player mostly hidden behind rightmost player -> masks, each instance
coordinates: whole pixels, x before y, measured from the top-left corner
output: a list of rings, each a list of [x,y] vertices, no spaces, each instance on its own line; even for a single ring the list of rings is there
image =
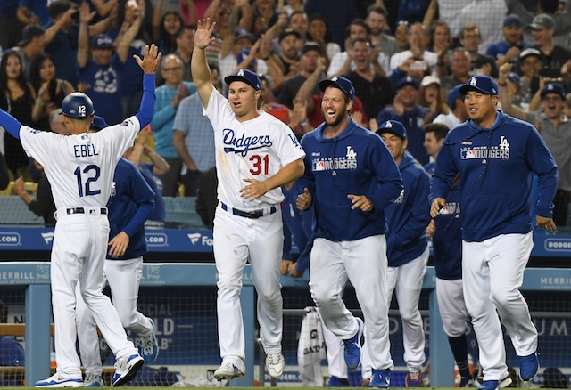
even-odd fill
[[[462,279],[462,218],[459,190],[452,187],[446,206],[434,218],[436,232],[432,238],[436,277],[444,280]]]

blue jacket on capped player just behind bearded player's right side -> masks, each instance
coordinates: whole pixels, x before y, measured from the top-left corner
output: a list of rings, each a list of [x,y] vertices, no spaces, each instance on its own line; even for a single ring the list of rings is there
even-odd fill
[[[386,256],[389,266],[410,263],[422,255],[428,245],[426,226],[430,223],[430,180],[423,167],[404,150],[399,164],[404,196],[386,207]]]

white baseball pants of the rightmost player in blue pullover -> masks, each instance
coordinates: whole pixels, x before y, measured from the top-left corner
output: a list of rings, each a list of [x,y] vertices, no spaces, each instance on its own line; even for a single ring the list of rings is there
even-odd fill
[[[517,355],[537,349],[537,329],[519,291],[533,247],[533,232],[462,241],[464,298],[478,340],[484,380],[501,380],[508,370],[498,313]]]

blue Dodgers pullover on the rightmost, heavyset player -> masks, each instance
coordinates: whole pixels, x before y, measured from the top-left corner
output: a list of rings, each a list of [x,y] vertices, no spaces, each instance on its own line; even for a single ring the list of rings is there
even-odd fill
[[[552,217],[557,165],[534,126],[498,111],[492,128],[471,119],[446,136],[436,159],[430,201],[446,199],[460,174],[462,240],[483,241],[532,230],[533,173],[537,215]]]

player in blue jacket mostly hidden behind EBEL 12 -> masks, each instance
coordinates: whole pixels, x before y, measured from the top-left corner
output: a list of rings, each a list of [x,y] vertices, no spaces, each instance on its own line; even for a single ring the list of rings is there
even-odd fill
[[[95,116],[94,132],[107,127],[104,119]],[[111,197],[107,202],[111,227],[103,279],[109,283],[113,306],[117,309],[123,328],[141,337],[140,353],[145,363],[153,363],[159,352],[154,322],[137,311],[139,280],[146,253],[145,221],[152,215],[155,193],[137,166],[120,158],[115,167]],[[125,248],[127,245],[127,248]],[[78,297],[77,323],[81,362],[86,368],[84,386],[103,386],[102,362],[95,319],[87,305]]]

